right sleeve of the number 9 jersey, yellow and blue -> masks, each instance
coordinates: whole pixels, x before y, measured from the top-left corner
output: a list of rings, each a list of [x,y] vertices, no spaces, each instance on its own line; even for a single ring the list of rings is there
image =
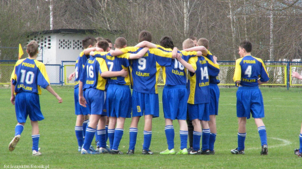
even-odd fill
[[[169,66],[171,64],[172,59],[172,53],[171,52],[165,52],[157,48],[151,48],[149,49],[150,54],[154,54],[156,62],[160,66]]]

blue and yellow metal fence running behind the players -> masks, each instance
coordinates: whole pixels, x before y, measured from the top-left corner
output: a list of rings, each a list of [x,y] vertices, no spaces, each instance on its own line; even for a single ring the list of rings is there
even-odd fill
[[[16,60],[0,60],[0,84],[10,84],[10,76]],[[235,61],[218,61],[220,65],[220,86],[234,86],[233,75]],[[264,61],[270,79],[266,86],[302,86],[302,80],[292,78],[291,72],[302,73],[302,62]],[[62,61],[59,64],[45,64],[51,84],[74,85],[74,78],[68,76],[75,71],[75,61]],[[164,85],[162,71],[158,77],[158,85]]]

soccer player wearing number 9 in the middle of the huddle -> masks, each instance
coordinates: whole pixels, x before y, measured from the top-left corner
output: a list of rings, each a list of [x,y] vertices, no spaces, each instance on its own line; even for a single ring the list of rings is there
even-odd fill
[[[139,42],[151,42],[149,31],[140,32]],[[143,48],[126,47],[121,53],[137,53]],[[121,53],[115,53],[120,55]],[[111,52],[111,55],[114,53]],[[172,53],[159,49],[149,49],[145,56],[133,59],[131,63],[133,92],[132,92],[132,121],[130,124],[130,142],[127,154],[133,154],[137,137],[137,124],[139,118],[145,115],[144,144],[142,154],[153,154],[149,149],[152,137],[152,118],[159,116],[157,77],[161,66],[171,64]]]

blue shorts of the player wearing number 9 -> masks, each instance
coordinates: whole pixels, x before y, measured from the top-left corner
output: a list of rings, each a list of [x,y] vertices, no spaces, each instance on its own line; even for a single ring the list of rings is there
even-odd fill
[[[132,92],[132,117],[153,115],[159,116],[158,94]]]

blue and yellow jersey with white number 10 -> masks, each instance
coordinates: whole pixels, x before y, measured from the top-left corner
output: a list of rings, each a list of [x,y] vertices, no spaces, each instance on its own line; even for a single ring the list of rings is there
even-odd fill
[[[50,84],[45,65],[31,58],[17,61],[11,79],[12,84],[15,85],[15,93],[41,94],[40,86],[45,89]]]

